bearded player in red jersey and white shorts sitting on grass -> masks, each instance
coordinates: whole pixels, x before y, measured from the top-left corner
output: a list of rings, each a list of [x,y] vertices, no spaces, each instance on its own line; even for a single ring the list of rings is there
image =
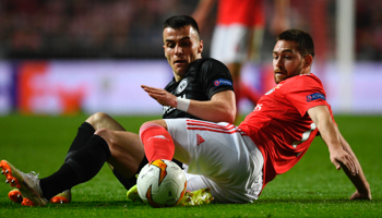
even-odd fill
[[[343,168],[356,187],[350,199],[371,199],[370,185],[335,123],[323,85],[311,73],[313,57],[308,33],[283,32],[273,50],[277,85],[243,122],[238,126],[192,119],[146,122],[140,136],[148,161],[175,157],[193,175],[189,191],[207,187],[217,203],[251,203],[270,181],[301,159],[319,134],[332,164]]]

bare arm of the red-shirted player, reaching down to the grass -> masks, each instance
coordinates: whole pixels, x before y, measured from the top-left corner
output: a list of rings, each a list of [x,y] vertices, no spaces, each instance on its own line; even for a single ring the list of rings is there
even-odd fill
[[[350,199],[371,199],[370,185],[366,180],[362,168],[353,153],[349,144],[339,133],[326,106],[318,106],[308,110],[308,114],[317,124],[322,140],[327,145],[331,161],[337,170],[344,169],[346,175],[357,191]]]

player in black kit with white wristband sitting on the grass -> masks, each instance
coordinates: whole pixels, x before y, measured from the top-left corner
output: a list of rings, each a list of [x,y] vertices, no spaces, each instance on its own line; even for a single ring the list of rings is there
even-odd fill
[[[172,16],[164,23],[163,37],[174,78],[165,89],[142,85],[164,106],[163,118],[234,122],[231,75],[222,62],[201,57],[203,41],[196,22],[190,16]],[[136,183],[135,174],[147,162],[139,135],[124,131],[108,114],[97,112],[81,124],[64,164],[53,174],[38,179],[5,160],[0,167],[7,181],[20,189],[24,205],[45,206],[49,199],[70,202],[70,189],[96,175],[105,161],[112,166],[126,189]]]

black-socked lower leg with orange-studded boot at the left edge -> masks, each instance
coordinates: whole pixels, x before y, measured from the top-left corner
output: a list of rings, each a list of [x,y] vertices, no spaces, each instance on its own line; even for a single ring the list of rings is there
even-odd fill
[[[45,206],[55,195],[92,179],[110,156],[106,141],[93,135],[85,146],[47,178],[38,179],[35,173],[23,173],[5,160],[1,161],[0,167],[11,186],[16,186],[32,205]]]

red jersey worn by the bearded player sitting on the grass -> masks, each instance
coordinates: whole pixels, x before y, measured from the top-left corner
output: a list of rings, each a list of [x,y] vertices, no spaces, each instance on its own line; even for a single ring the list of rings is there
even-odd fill
[[[267,92],[239,128],[264,157],[264,184],[288,171],[308,150],[318,129],[307,111],[327,106],[321,81],[313,74],[282,81]]]

